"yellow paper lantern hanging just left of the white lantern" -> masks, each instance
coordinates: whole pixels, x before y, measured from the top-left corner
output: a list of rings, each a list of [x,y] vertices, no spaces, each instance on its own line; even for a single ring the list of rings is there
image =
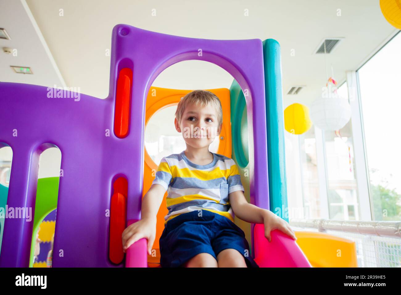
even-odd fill
[[[292,104],[284,110],[284,128],[291,134],[302,134],[312,127],[309,109],[303,104]]]

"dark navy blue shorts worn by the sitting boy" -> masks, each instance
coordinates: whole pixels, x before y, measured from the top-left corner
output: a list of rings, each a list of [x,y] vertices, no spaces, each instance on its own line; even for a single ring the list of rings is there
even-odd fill
[[[199,253],[209,253],[217,260],[224,249],[236,249],[247,267],[259,267],[251,257],[245,234],[227,217],[202,210],[183,213],[166,223],[160,236],[160,266],[183,267]]]

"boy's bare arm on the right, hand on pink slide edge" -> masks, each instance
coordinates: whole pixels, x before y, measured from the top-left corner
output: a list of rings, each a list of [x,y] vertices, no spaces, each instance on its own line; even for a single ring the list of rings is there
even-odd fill
[[[271,241],[270,232],[275,229],[281,230],[284,234],[287,234],[294,240],[297,239],[288,222],[275,215],[270,210],[262,209],[248,203],[243,191],[233,191],[232,193],[229,193],[229,199],[234,214],[239,219],[250,223],[264,224],[265,237],[269,242]]]

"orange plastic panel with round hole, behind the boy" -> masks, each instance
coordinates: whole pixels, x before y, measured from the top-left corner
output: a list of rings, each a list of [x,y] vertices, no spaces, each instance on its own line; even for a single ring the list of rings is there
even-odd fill
[[[181,98],[192,90],[176,90],[167,89],[160,87],[150,87],[148,92],[148,97],[146,99],[146,116],[145,116],[145,126],[148,124],[150,117],[153,116],[158,110],[166,108],[168,106],[177,105]],[[227,88],[219,89],[209,89],[208,91],[214,93],[221,102],[223,108],[223,126],[221,128],[219,149],[218,154],[225,155],[231,158],[231,112],[230,112],[230,90]],[[166,122],[166,124],[174,124],[174,120],[171,122]],[[146,128],[146,127],[145,127]],[[145,163],[144,163],[144,190],[142,197],[150,189],[152,181],[154,180],[155,173],[158,167],[158,163],[154,163],[150,158],[145,147]],[[148,266],[158,267],[160,262],[160,252],[159,252],[159,239],[164,230],[164,216],[168,213],[166,208],[166,196],[164,195],[162,204],[160,205],[160,210],[157,214],[157,224],[156,224],[156,238],[152,249],[156,250],[156,256],[148,256]]]

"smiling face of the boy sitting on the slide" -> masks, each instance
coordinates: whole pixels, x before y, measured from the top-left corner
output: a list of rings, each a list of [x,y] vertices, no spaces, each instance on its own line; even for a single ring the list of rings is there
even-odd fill
[[[195,149],[209,146],[221,131],[217,112],[211,104],[203,108],[188,104],[182,114],[181,122],[175,119],[174,124],[176,130],[182,133],[186,144]]]

